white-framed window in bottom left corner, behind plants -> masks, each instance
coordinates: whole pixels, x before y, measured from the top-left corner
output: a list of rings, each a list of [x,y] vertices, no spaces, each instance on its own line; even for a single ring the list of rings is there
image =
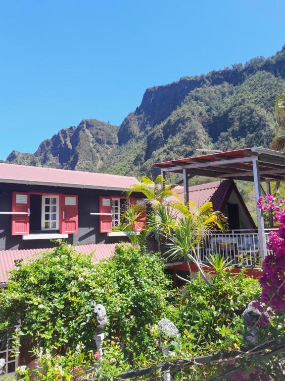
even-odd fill
[[[0,332],[0,379],[1,376],[13,376],[18,368],[18,356],[15,356],[16,348],[12,345],[12,339],[7,337],[6,331]],[[3,367],[2,367],[3,365]]]

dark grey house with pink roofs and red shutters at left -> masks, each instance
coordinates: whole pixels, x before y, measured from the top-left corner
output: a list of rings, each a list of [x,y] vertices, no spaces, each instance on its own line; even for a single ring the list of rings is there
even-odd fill
[[[51,239],[95,251],[95,260],[112,255],[125,239],[112,231],[127,202],[123,192],[135,183],[135,177],[0,163],[0,283],[15,259],[51,248]],[[134,193],[131,202],[139,201]]]

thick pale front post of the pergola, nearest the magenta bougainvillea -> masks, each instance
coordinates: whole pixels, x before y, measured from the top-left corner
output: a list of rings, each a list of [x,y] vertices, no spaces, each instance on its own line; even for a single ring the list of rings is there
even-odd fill
[[[257,202],[258,198],[261,196],[261,185],[260,185],[260,176],[259,176],[259,164],[256,159],[252,160],[253,167],[253,181],[254,181],[254,192],[255,192],[255,201]],[[258,246],[259,246],[259,255],[263,259],[266,255],[266,241],[265,241],[265,232],[264,232],[264,221],[262,210],[256,206],[256,216],[257,216],[257,227],[258,227]]]

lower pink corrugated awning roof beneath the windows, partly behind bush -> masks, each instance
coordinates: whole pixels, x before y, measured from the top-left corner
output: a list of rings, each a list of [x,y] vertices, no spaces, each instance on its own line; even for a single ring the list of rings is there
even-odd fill
[[[98,262],[100,259],[107,259],[115,252],[117,244],[89,244],[74,246],[77,253],[91,254],[93,260]],[[8,279],[7,271],[15,268],[15,260],[30,259],[37,253],[52,249],[26,249],[26,250],[0,250],[0,283],[4,283]]]

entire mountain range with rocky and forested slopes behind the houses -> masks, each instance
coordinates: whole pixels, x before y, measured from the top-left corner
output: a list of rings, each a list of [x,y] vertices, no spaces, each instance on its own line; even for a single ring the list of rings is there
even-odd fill
[[[197,149],[269,147],[274,102],[283,91],[285,47],[268,59],[148,88],[120,127],[83,120],[34,154],[13,151],[6,162],[140,176],[149,175],[154,162]]]

